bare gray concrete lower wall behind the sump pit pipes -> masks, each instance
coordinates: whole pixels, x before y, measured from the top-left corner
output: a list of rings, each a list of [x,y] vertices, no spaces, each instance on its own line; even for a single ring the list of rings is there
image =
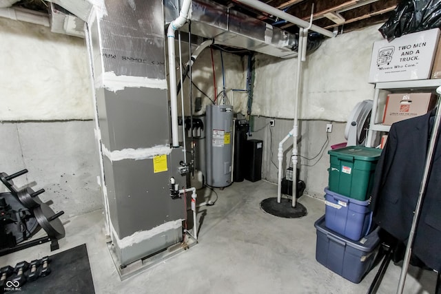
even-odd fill
[[[274,127],[269,126],[269,120],[263,116],[254,117],[253,139],[264,141],[262,178],[269,182],[278,180],[278,143],[285,138],[293,128],[294,120],[277,119]],[[332,123],[331,133],[326,132],[326,125]],[[300,167],[300,180],[305,181],[305,193],[309,196],[322,199],[323,190],[328,185],[329,154],[327,151],[332,145],[346,142],[346,123],[337,123],[329,120],[300,120],[298,138],[298,167]],[[283,177],[287,167],[292,166],[291,156],[294,140],[290,138],[283,145]],[[320,151],[321,150],[321,151]],[[314,158],[315,157],[315,158]],[[314,158],[308,160],[307,158]],[[274,188],[274,197],[277,189]]]

